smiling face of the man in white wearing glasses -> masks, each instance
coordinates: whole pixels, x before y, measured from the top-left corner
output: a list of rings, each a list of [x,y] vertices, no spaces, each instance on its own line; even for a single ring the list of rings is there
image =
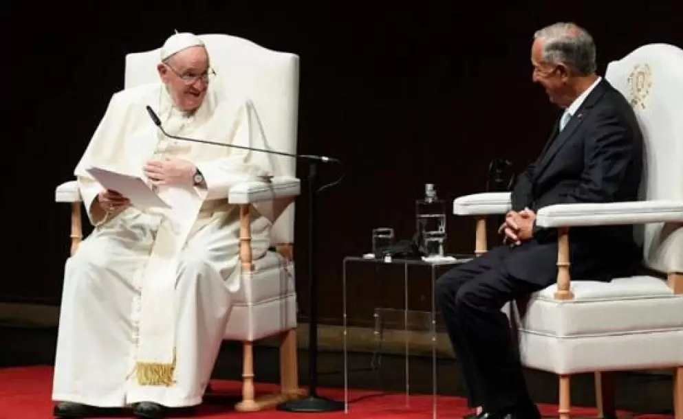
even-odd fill
[[[175,106],[182,111],[195,111],[202,105],[211,72],[204,47],[184,49],[157,69]]]

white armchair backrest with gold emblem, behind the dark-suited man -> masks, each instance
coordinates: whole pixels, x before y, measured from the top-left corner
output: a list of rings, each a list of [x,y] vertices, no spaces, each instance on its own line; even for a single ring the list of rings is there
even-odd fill
[[[644,135],[642,199],[683,201],[683,50],[644,45],[609,63],[605,78],[631,102]],[[651,269],[683,272],[683,225],[636,231]]]

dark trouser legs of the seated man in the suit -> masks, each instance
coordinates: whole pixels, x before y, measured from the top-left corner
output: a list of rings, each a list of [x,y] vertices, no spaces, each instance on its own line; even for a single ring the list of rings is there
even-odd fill
[[[491,249],[437,280],[437,302],[461,365],[470,407],[500,411],[532,404],[501,308],[553,284],[556,260],[555,240],[530,240]]]

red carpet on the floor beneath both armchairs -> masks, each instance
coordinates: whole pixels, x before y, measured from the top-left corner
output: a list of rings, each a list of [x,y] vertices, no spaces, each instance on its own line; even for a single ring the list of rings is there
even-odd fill
[[[254,414],[243,414],[232,410],[235,400],[239,397],[239,383],[235,381],[213,381],[213,395],[208,396],[206,402],[195,417],[197,418],[237,418],[245,416],[249,419],[284,419],[297,414],[276,410],[263,411]],[[273,392],[274,385],[258,385],[257,392],[263,394]],[[50,400],[52,391],[52,368],[50,367],[21,367],[0,370],[0,419],[49,419],[52,418],[53,403]],[[321,396],[336,400],[344,400],[343,389],[321,389]],[[456,397],[441,396],[437,399],[439,418],[462,418],[469,411],[465,400]],[[541,411],[548,416],[556,416],[556,408],[541,405]],[[381,392],[354,390],[349,392],[349,413],[343,411],[329,414],[303,414],[311,419],[413,419],[431,418],[431,396],[411,396],[410,406],[406,406],[406,398],[402,394],[383,394]],[[578,408],[575,415],[592,416],[594,409]],[[302,415],[302,414],[298,414]],[[131,418],[132,416],[121,416]],[[672,416],[644,415],[639,419],[664,419]]]

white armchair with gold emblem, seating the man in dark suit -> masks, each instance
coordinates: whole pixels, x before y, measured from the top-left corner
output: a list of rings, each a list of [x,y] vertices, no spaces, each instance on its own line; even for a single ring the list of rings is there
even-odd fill
[[[614,415],[609,372],[673,368],[675,418],[683,419],[683,50],[645,45],[609,63],[605,78],[631,101],[646,142],[643,201],[551,205],[536,224],[559,231],[557,283],[517,302],[523,365],[558,374],[559,415],[570,418],[570,376],[595,372],[600,417]],[[510,210],[510,194],[455,200],[477,217],[476,252],[486,251],[486,215]],[[570,280],[571,227],[633,224],[652,275],[609,283]],[[514,311],[514,310],[513,310]]]

